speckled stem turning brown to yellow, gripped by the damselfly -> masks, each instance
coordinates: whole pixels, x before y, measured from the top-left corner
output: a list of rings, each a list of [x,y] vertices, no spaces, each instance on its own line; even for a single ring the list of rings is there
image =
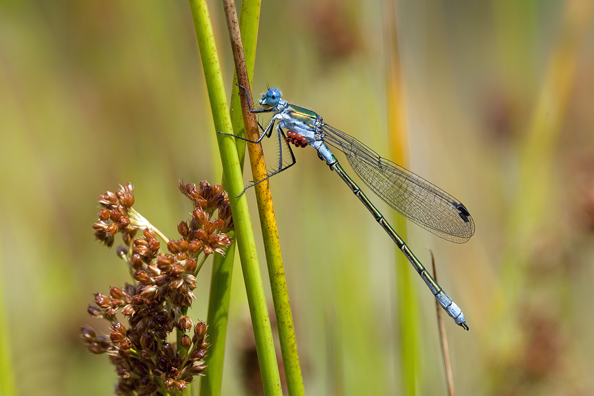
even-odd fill
[[[249,92],[248,71],[245,65],[244,47],[241,41],[235,2],[233,0],[223,0],[223,7],[225,8],[225,16],[229,28],[236,75],[239,84],[246,87]],[[248,109],[249,98],[245,95],[244,90],[240,90],[239,92],[241,93],[241,109],[246,136],[251,140],[256,140],[260,136],[260,132],[258,131],[255,115],[250,113]],[[249,96],[251,96],[251,93]],[[248,153],[254,180],[257,181],[266,178],[268,172],[266,170],[266,161],[264,161],[262,146],[260,144],[248,144]],[[276,226],[276,217],[274,216],[274,206],[268,180],[258,183],[254,189],[258,203],[258,213],[260,214],[260,225],[264,240],[264,250],[266,251],[268,276],[270,277],[270,287],[274,302],[274,312],[276,313],[287,389],[290,396],[304,396],[305,389],[301,376],[301,366],[299,365],[297,340],[295,338],[295,328],[293,327],[289,293],[287,292],[285,280],[285,268],[283,268],[283,257],[280,252],[279,232]]]

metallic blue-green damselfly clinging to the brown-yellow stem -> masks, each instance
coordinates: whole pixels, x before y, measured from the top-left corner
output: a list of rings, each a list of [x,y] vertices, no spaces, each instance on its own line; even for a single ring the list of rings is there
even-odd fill
[[[396,231],[386,221],[383,214],[369,201],[369,198],[361,191],[358,185],[345,172],[339,161],[330,151],[331,147],[345,153],[347,160],[355,173],[363,182],[383,199],[394,210],[399,211],[413,223],[418,224],[429,232],[434,233],[443,239],[451,242],[464,243],[470,239],[475,232],[475,223],[466,207],[456,198],[447,192],[429,183],[427,180],[415,175],[415,173],[393,163],[387,159],[378,156],[375,151],[356,140],[350,135],[331,127],[322,118],[311,110],[295,106],[281,99],[281,93],[276,88],[270,88],[264,93],[258,103],[262,109],[253,109],[249,103],[248,90],[243,88],[248,98],[249,111],[252,113],[274,113],[266,128],[259,123],[263,133],[258,140],[249,140],[236,136],[251,143],[259,143],[264,137],[271,137],[274,125],[279,138],[280,158],[279,166],[274,172],[266,178],[258,180],[245,189],[254,186],[276,175],[295,164],[295,155],[290,144],[296,147],[311,147],[318,151],[318,157],[325,161],[330,169],[336,171],[352,192],[363,202],[365,207],[371,212],[375,220],[383,227],[388,235],[394,240],[396,246],[403,252],[410,264],[421,275],[431,293],[438,300],[454,321],[468,330],[466,319],[462,310],[445,294],[443,289],[429,275],[421,261],[413,254],[405,241],[396,233]],[[287,133],[285,135],[285,128]],[[233,135],[235,136],[235,135]],[[287,142],[291,162],[283,164],[282,144],[283,140]],[[245,191],[244,189],[244,191]]]

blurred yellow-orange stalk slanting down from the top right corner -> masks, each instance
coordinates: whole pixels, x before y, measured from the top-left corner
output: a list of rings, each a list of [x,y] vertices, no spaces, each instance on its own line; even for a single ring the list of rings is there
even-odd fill
[[[523,347],[520,316],[515,312],[522,301],[528,299],[529,293],[534,293],[527,282],[527,265],[533,250],[530,248],[542,229],[558,228],[557,219],[551,217],[551,208],[560,205],[554,185],[555,156],[580,50],[587,40],[593,17],[594,2],[565,2],[558,37],[551,49],[532,118],[520,147],[519,188],[509,210],[501,267],[500,283],[504,287],[504,296],[503,301],[493,301],[493,323],[489,327],[497,328],[492,343],[498,346],[498,356],[505,357],[502,365],[513,364],[509,363],[509,357],[515,356],[517,349]],[[510,315],[510,312],[515,314]],[[560,314],[567,315],[565,311]]]

